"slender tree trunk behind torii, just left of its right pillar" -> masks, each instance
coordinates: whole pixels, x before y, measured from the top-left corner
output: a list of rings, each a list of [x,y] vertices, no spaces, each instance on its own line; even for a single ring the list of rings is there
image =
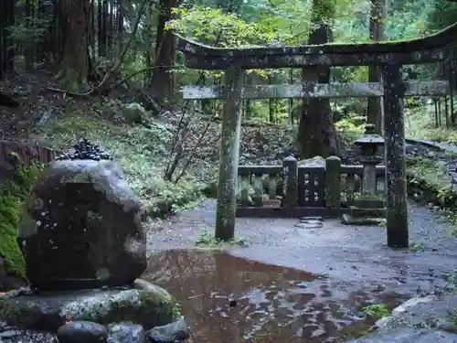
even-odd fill
[[[386,17],[386,0],[371,0],[370,39],[384,40],[384,19]],[[381,71],[378,66],[368,67],[368,82],[380,82]],[[367,123],[376,127],[377,134],[382,133],[382,102],[381,98],[368,98]]]

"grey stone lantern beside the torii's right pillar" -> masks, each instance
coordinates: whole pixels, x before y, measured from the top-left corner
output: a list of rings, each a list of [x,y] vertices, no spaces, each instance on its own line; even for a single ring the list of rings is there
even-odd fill
[[[384,138],[376,134],[375,125],[367,124],[365,134],[354,144],[358,147],[363,164],[362,194],[349,207],[349,213],[343,215],[343,222],[354,225],[377,224],[386,218],[385,200],[376,193],[376,166],[384,159],[380,154]]]

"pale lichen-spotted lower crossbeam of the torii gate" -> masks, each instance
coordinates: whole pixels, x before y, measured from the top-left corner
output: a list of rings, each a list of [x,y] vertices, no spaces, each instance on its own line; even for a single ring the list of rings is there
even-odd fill
[[[404,82],[405,96],[443,96],[449,93],[445,80]],[[183,99],[223,99],[223,86],[185,86]],[[366,83],[308,83],[277,85],[245,85],[241,99],[302,99],[302,98],[367,98],[382,97],[384,88],[380,82]]]

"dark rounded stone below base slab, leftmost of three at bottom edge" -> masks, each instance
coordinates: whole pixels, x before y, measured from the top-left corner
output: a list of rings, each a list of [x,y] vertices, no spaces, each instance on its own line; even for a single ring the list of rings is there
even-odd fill
[[[58,343],[105,343],[108,330],[101,324],[74,321],[58,328]]]

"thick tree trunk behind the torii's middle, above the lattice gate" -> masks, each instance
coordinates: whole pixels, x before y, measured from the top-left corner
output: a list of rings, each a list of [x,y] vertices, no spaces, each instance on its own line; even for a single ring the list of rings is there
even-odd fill
[[[332,0],[313,0],[312,32],[308,44],[324,44],[332,41],[329,21],[334,16]],[[330,68],[304,68],[303,81],[330,82]],[[303,158],[339,154],[333,113],[329,99],[303,99],[297,143]]]

